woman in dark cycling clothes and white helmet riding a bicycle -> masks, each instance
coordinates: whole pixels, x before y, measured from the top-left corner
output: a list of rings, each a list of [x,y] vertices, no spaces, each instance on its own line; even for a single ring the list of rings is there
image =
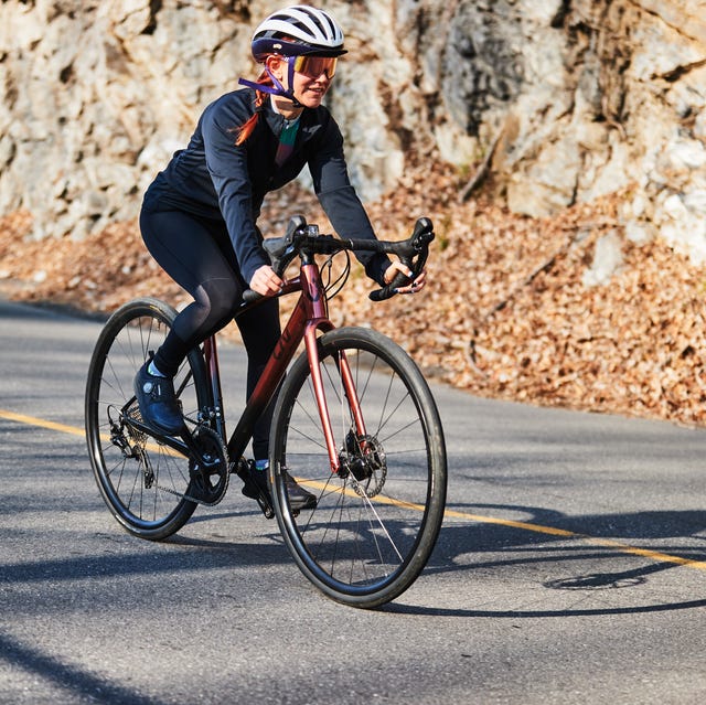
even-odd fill
[[[188,352],[234,317],[243,291],[277,295],[282,280],[270,267],[256,222],[265,195],[292,181],[308,164],[313,188],[334,229],[343,237],[374,238],[353,190],[338,125],[321,102],[345,53],[343,33],[330,14],[295,6],[268,17],[255,31],[253,56],[264,64],[257,82],[208,105],[189,146],[178,151],[145,194],[142,238],[160,266],[192,297],[174,319],[163,344],[139,370],[135,393],[143,419],[158,431],[183,430],[172,378]],[[356,255],[376,282],[410,273],[384,255]],[[399,292],[425,285],[424,273]],[[276,298],[238,316],[248,356],[247,395],[265,368],[279,334]],[[271,409],[253,434],[252,478],[243,492],[266,488]],[[256,488],[252,482],[255,481]],[[293,509],[314,496],[288,481]]]

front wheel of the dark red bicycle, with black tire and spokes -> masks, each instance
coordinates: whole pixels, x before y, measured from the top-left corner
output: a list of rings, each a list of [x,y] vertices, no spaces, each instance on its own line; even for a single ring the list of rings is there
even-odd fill
[[[344,470],[331,471],[304,352],[288,372],[274,413],[275,512],[295,562],[313,585],[339,602],[375,608],[416,580],[436,544],[446,505],[443,431],[421,372],[388,338],[342,328],[322,335],[318,349]],[[351,406],[341,392],[343,351],[366,424],[364,439],[352,435]],[[363,456],[371,474],[357,470],[356,479],[351,469],[364,467],[354,464]],[[317,495],[314,509],[292,511],[286,472]]]

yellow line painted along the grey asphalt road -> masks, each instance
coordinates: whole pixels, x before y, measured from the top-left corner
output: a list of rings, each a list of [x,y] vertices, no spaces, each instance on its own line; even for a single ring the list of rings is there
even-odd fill
[[[14,412],[8,412],[0,409],[0,418],[4,418],[9,421],[17,421],[18,424],[24,424],[28,426],[36,426],[39,428],[46,428],[50,430],[56,430],[63,434],[71,434],[73,436],[85,437],[83,428],[76,428],[75,426],[66,426],[65,424],[56,424],[55,421],[49,421],[43,418],[36,418],[34,416],[26,416],[24,414],[15,414]],[[318,483],[311,483],[318,484]],[[393,503],[393,500],[386,502]],[[407,505],[407,503],[404,503]],[[413,506],[413,505],[409,505]],[[419,508],[421,509],[421,508]],[[695,568],[697,570],[706,570],[706,562],[693,560],[691,558],[683,558],[681,556],[673,556],[666,553],[660,553],[659,551],[651,551],[649,548],[638,548],[637,546],[630,546],[619,541],[612,541],[610,538],[596,538],[586,534],[578,534],[573,531],[566,531],[565,528],[555,528],[554,526],[543,526],[541,524],[531,524],[528,522],[518,522],[511,519],[499,519],[496,516],[483,516],[481,514],[471,514],[469,512],[458,512],[456,510],[446,510],[443,514],[447,519],[463,519],[466,521],[479,522],[482,524],[495,524],[499,526],[507,526],[510,528],[520,528],[522,531],[533,532],[535,534],[545,534],[549,536],[560,536],[563,538],[571,538],[588,543],[592,546],[600,546],[601,548],[611,548],[620,553],[641,556],[643,558],[650,558],[657,563],[673,563],[674,565],[686,566],[688,568]]]

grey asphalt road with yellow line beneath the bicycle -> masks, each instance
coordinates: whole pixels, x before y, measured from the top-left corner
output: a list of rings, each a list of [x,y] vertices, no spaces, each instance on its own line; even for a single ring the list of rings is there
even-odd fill
[[[435,386],[449,515],[360,611],[235,482],[168,542],[118,527],[83,438],[99,325],[0,302],[0,703],[706,699],[705,430]],[[222,346],[236,406],[242,365]]]

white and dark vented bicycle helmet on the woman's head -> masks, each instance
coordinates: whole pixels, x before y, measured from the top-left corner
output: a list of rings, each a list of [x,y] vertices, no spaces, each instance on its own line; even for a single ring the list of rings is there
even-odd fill
[[[253,56],[263,62],[269,54],[300,56],[340,56],[343,32],[338,22],[323,10],[297,4],[274,12],[255,30]]]

